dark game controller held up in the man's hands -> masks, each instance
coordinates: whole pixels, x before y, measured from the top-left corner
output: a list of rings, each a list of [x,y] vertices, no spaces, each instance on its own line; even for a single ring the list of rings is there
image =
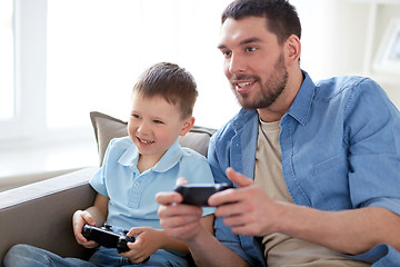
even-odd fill
[[[229,184],[192,184],[192,185],[181,185],[176,187],[176,191],[182,195],[182,204],[193,205],[193,206],[209,206],[208,199],[211,195],[233,188]]]

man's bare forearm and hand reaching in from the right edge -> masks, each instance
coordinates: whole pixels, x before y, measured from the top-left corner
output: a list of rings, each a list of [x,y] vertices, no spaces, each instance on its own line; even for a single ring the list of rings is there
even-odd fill
[[[379,244],[399,250],[400,217],[384,208],[364,207],[323,211],[271,199],[260,187],[233,169],[227,176],[239,189],[210,197],[216,216],[239,235],[266,236],[281,233],[340,253],[357,255]]]

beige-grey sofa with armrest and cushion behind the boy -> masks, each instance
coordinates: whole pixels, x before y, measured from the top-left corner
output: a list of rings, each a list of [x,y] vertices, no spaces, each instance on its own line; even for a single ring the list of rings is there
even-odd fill
[[[101,162],[109,140],[127,136],[127,122],[100,112],[90,116]],[[179,141],[206,156],[213,132],[193,127]],[[71,216],[93,204],[96,192],[88,181],[98,169],[84,168],[0,192],[0,261],[16,244],[30,244],[63,257],[87,258],[91,251],[76,243]]]

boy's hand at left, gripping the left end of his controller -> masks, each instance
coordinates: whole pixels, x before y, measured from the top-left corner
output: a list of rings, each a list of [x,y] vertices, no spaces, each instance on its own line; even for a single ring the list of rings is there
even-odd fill
[[[93,217],[86,210],[77,210],[72,216],[72,228],[73,235],[79,245],[82,245],[86,248],[94,248],[99,246],[96,241],[88,240],[82,235],[82,228],[84,224],[96,225]]]

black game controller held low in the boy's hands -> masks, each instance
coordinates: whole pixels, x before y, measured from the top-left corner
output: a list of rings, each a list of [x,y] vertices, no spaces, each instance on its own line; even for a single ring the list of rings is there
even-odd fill
[[[134,237],[127,236],[128,231],[114,233],[110,225],[97,227],[86,224],[82,228],[82,235],[88,240],[93,240],[107,248],[117,248],[117,251],[129,251],[128,243],[133,243]]]

